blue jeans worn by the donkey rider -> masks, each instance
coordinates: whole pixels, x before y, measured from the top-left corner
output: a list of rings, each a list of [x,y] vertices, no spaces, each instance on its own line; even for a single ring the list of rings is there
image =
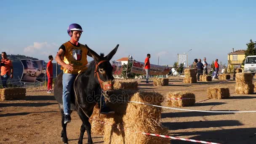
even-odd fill
[[[62,76],[62,101],[63,101],[63,111],[65,115],[70,115],[70,101],[71,101],[71,90],[77,75],[63,73]]]

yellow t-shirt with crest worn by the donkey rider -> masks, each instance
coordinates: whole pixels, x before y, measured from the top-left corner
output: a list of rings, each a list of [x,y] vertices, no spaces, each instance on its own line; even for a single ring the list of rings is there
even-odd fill
[[[68,71],[66,68],[63,68],[64,73],[69,74],[79,74],[80,72],[84,72],[88,64],[87,61],[87,53],[88,49],[85,45],[79,43],[79,47],[72,45],[69,41],[63,44],[65,46],[65,54],[63,61],[66,64],[73,64],[73,71]]]

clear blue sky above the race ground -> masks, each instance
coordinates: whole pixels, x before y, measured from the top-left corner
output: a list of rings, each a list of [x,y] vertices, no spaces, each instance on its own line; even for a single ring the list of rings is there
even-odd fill
[[[189,49],[189,62],[206,57],[227,63],[227,53],[256,41],[253,0],[5,0],[0,5],[0,50],[39,59],[67,42],[67,27],[83,27],[80,43],[151,63],[173,64]],[[89,59],[91,60],[91,59]]]

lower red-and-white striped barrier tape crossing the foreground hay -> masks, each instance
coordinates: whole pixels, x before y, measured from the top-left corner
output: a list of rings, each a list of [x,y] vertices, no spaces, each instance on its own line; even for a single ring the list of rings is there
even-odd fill
[[[92,120],[95,120],[95,119],[92,119]],[[101,124],[110,125],[106,122],[102,122],[102,121],[99,121],[99,120],[96,120],[96,121],[98,121]],[[116,127],[113,126],[113,125],[110,125],[110,126],[112,126],[113,128],[118,128],[120,131],[130,131],[130,130],[126,130],[124,128],[119,128],[118,126],[116,126]],[[192,142],[197,142],[197,143],[202,143],[202,144],[220,144],[220,143],[214,143],[214,142],[208,142],[208,141],[199,141],[199,140],[195,140],[195,139],[184,139],[184,138],[179,138],[179,137],[165,136],[165,135],[153,134],[153,133],[144,133],[144,132],[137,132],[137,131],[130,131],[130,132],[141,133],[141,134],[148,135],[148,136],[163,137],[163,138],[168,138],[168,139],[177,139],[177,140],[181,140],[181,141],[192,141]]]

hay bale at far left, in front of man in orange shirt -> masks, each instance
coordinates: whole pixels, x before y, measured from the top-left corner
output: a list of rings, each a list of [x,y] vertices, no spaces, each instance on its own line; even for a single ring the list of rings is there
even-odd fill
[[[13,100],[22,99],[26,97],[26,88],[2,88],[0,89],[0,99]]]

